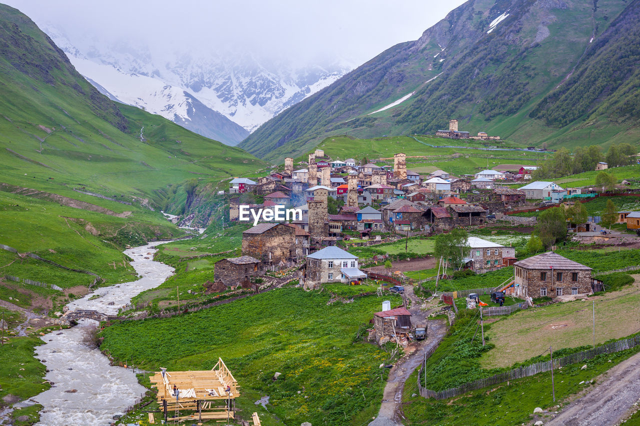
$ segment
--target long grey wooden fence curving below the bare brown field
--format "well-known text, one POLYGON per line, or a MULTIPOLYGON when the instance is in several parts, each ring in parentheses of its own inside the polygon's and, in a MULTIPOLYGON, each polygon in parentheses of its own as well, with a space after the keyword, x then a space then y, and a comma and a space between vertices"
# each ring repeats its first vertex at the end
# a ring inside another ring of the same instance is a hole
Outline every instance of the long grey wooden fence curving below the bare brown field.
POLYGON ((573 363, 579 363, 584 361, 585 359, 591 359, 600 354, 611 354, 614 352, 620 352, 620 351, 625 351, 627 349, 632 349, 637 345, 640 345, 640 335, 629 337, 623 340, 618 340, 617 342, 607 343, 606 345, 601 345, 593 349, 588 349, 587 351, 576 352, 575 354, 563 356, 562 358, 554 358, 553 365, 551 361, 540 361, 535 364, 513 368, 513 370, 509 370, 508 372, 504 372, 504 373, 495 374, 495 375, 492 375, 491 377, 486 377, 484 379, 478 379, 476 381, 468 382, 461 386, 458 386, 457 388, 449 388, 442 391, 433 391, 433 390, 424 388, 424 386, 422 386, 422 384, 420 383, 420 377, 426 366, 426 358, 425 358, 424 361, 422 361, 422 366, 420 367, 420 370, 418 372, 418 389, 420 391, 420 396, 424 398, 447 399, 447 398, 457 397, 458 395, 463 395, 468 391, 486 388, 487 386, 493 386, 495 384, 504 383, 508 380, 522 379, 522 377, 530 377, 538 373, 551 371, 552 369, 555 369, 555 368, 565 367, 566 365, 570 365, 573 363))

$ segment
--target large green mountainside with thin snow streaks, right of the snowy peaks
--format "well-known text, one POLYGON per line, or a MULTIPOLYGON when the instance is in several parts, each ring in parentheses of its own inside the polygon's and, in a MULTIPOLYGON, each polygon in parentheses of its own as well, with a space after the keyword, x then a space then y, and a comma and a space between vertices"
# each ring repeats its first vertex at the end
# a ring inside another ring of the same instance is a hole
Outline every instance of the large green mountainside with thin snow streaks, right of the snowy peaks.
MULTIPOLYGON (((638 9, 637 0, 470 0, 419 40, 391 47, 269 120, 239 146, 276 159, 300 154, 332 134, 433 133, 446 129, 450 118, 460 120, 460 130, 526 145, 628 141, 640 134, 637 118, 624 107, 600 107, 614 99, 621 106, 630 102, 630 72, 618 73, 616 84, 605 84, 607 90, 584 106, 573 108, 575 102, 564 97, 572 113, 555 116, 568 121, 551 120, 545 111, 556 109, 550 103, 556 93, 575 86, 587 70, 607 75, 611 66, 605 63, 616 58, 611 55, 621 44, 627 56, 637 55, 638 9), (406 95, 397 106, 375 112, 406 95)), ((630 59, 625 67, 634 64, 630 59)))

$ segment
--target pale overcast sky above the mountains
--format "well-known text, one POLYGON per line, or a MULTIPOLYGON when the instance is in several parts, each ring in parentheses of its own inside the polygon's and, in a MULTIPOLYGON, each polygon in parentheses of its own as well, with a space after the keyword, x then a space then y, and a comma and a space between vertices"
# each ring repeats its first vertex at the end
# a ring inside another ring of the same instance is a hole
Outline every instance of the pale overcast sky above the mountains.
MULTIPOLYGON (((1 0, 0 0, 1 1, 1 0)), ((5 0, 82 49, 90 40, 207 56, 244 51, 276 60, 360 65, 419 38, 462 0, 5 0)))

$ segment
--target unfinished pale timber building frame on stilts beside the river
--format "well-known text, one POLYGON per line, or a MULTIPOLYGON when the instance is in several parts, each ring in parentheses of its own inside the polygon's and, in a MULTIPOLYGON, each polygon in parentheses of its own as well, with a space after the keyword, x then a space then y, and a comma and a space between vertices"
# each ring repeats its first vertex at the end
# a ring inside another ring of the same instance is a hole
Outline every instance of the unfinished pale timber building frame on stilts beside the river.
POLYGON ((161 368, 150 380, 158 390, 157 400, 163 407, 165 421, 226 421, 234 418, 232 404, 236 404, 239 386, 221 358, 211 370, 168 372, 161 368), (178 389, 177 398, 173 395, 174 385, 178 389), (180 411, 193 413, 180 416, 180 411), (173 414, 168 416, 168 413, 173 414))

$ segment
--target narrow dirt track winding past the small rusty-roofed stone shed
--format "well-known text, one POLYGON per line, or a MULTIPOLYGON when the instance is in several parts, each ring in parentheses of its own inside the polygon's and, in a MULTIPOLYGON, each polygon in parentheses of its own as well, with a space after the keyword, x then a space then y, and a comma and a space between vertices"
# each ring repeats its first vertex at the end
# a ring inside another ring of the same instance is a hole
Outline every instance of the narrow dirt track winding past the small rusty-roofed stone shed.
MULTIPOLYGON (((421 308, 425 308, 424 302, 413 294, 413 287, 410 285, 404 286, 405 296, 411 299, 411 308, 409 311, 412 313, 412 324, 417 322, 427 322, 428 338, 421 342, 413 342, 406 349, 405 353, 408 353, 400 359, 391 368, 389 376, 387 378, 387 385, 382 398, 382 405, 376 419, 369 423, 369 426, 401 426, 401 412, 400 407, 402 404, 402 396, 404 393, 405 382, 413 371, 420 366, 422 359, 424 359, 424 353, 429 351, 432 347, 437 346, 440 343, 442 336, 447 333, 447 323, 444 320, 425 320, 424 318, 429 315, 429 309, 422 311, 421 308)), ((412 390, 412 386, 415 383, 407 383, 407 391, 417 392, 412 390)), ((417 387, 417 386, 416 386, 417 387)))

